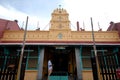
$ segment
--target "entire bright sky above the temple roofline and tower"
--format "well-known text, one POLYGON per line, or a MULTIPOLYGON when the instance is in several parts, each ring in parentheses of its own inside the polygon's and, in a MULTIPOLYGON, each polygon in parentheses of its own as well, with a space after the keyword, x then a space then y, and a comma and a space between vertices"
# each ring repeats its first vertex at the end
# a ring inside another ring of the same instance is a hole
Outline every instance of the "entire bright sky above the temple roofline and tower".
POLYGON ((26 17, 29 16, 28 29, 49 29, 51 13, 61 5, 69 13, 72 30, 76 29, 76 22, 80 27, 91 30, 90 17, 93 18, 94 30, 100 27, 106 31, 110 21, 120 22, 119 0, 1 0, 0 18, 19 21, 24 27, 26 17), (39 23, 39 25, 38 25, 39 23))

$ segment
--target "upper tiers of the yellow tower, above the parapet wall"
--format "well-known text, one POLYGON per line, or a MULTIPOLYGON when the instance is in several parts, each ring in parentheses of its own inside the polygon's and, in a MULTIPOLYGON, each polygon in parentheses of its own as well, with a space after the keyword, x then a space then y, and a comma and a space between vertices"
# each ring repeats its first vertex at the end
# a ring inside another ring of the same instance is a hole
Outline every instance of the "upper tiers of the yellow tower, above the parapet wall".
POLYGON ((69 14, 63 8, 57 8, 52 13, 52 19, 50 21, 50 29, 70 29, 70 21, 68 19, 69 14))

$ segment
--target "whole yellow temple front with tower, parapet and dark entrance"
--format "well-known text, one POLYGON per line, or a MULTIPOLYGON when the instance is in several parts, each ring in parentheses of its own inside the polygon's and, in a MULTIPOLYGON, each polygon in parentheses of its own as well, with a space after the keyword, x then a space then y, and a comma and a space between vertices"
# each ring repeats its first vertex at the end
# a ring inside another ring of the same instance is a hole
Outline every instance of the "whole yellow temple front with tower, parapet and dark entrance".
MULTIPOLYGON (((25 80, 47 78, 47 62, 52 59, 53 73, 66 72, 70 79, 93 80, 91 56, 94 56, 92 31, 72 31, 69 14, 63 8, 51 14, 50 29, 27 30, 24 56, 27 56, 25 80)), ((24 30, 17 21, 0 19, 0 54, 20 54, 24 30)), ((97 54, 118 51, 119 29, 110 25, 107 31, 94 31, 97 54), (111 27, 112 26, 112 27, 111 27)))

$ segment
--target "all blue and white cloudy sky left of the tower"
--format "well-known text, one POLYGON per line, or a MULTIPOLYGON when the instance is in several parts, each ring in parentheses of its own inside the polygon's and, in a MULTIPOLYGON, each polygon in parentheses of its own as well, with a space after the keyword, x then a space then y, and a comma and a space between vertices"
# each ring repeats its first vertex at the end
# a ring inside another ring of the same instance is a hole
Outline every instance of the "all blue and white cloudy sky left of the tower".
POLYGON ((35 30, 38 26, 42 30, 48 30, 52 10, 58 7, 58 3, 61 3, 61 0, 13 0, 12 2, 9 0, 2 0, 0 3, 0 10, 2 11, 0 13, 0 18, 9 20, 17 19, 20 27, 23 27, 25 25, 26 17, 29 16, 29 30, 35 30))

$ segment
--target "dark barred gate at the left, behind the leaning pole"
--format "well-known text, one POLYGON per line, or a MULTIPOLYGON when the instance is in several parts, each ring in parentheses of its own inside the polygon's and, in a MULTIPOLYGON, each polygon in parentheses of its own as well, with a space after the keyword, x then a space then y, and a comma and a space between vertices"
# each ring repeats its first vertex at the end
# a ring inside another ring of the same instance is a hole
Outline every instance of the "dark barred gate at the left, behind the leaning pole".
MULTIPOLYGON (((0 54, 0 80, 16 80, 20 56, 0 54)), ((20 80, 24 80, 26 57, 22 61, 20 80)))

